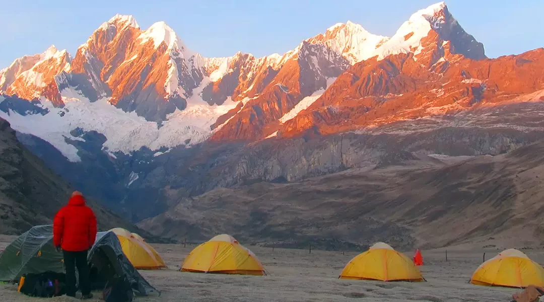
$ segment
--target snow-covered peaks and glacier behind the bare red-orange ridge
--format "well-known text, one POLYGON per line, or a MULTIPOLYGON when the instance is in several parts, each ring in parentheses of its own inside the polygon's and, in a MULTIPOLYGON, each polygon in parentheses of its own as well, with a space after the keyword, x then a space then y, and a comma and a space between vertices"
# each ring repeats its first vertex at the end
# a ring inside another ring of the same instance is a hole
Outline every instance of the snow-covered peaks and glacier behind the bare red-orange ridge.
POLYGON ((412 54, 411 61, 432 72, 450 64, 447 58, 455 54, 485 59, 483 45, 462 29, 443 2, 413 14, 393 37, 371 34, 348 21, 283 55, 263 58, 241 52, 203 58, 164 22, 143 30, 134 17, 115 15, 73 59, 51 47, 15 60, 0 71, 0 93, 38 99, 36 106, 47 114, 24 119, 6 112, 5 118, 18 131, 41 137, 77 161, 75 148, 64 139, 76 128, 98 131, 106 136, 104 147, 124 153, 208 137, 255 141, 281 136, 283 123, 308 111, 350 66, 397 54, 412 54), (47 126, 37 130, 35 123, 47 126), (108 127, 120 133, 110 134, 104 129, 108 127))

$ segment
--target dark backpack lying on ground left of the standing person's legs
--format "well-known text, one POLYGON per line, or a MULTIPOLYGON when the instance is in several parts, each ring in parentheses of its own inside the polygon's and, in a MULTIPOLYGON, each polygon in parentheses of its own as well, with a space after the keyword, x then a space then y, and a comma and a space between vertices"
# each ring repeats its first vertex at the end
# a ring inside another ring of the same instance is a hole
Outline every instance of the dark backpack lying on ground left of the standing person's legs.
POLYGON ((26 274, 21 277, 19 291, 30 297, 51 298, 66 293, 66 275, 47 271, 39 274, 26 274))

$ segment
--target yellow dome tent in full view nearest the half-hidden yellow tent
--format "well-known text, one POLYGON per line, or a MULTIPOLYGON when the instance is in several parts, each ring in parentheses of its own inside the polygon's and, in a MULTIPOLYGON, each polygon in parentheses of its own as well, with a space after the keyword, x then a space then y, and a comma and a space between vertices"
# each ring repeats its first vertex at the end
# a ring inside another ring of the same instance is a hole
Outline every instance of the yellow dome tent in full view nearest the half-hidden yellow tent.
POLYGON ((182 272, 264 275, 255 254, 230 235, 218 235, 200 244, 186 257, 182 272))

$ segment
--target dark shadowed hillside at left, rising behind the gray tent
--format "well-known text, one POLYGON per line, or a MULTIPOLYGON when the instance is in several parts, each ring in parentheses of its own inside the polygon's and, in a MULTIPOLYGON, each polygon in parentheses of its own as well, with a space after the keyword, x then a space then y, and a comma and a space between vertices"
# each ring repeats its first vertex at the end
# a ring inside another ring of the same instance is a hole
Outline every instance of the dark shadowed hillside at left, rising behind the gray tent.
MULTIPOLYGON (((32 226, 51 224, 73 189, 16 139, 15 131, 4 119, 0 119, 0 155, 2 234, 20 235, 32 226)), ((122 227, 139 232, 151 241, 156 239, 92 199, 88 199, 87 204, 95 211, 99 229, 122 227)))

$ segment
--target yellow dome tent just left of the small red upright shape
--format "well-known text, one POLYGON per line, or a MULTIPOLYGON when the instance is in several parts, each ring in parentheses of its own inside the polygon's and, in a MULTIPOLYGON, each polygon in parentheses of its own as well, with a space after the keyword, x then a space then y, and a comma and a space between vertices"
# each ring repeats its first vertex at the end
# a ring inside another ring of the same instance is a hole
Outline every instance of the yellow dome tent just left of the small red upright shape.
POLYGON ((379 242, 354 257, 342 270, 340 279, 381 281, 424 281, 409 257, 379 242))

